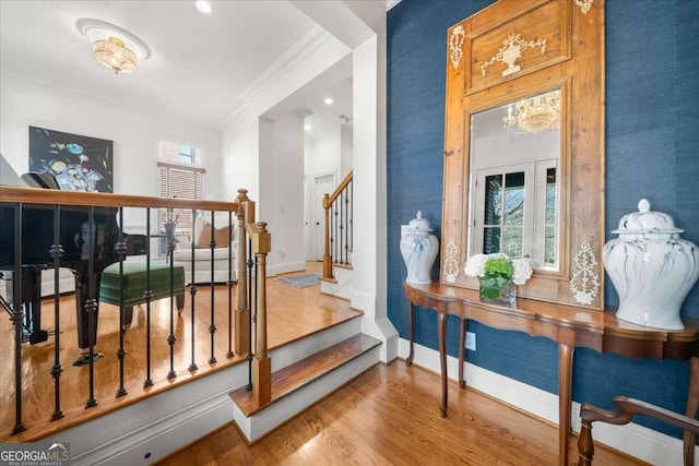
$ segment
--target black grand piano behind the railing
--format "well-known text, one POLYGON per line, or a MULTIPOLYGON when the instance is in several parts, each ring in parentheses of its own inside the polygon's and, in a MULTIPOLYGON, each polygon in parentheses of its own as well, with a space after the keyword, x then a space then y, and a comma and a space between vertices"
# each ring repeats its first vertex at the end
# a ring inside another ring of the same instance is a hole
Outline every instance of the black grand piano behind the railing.
MULTIPOLYGON (((1 154, 0 176, 0 184, 60 189, 50 174, 25 174, 17 177, 1 154)), ((7 295, 0 296, 0 306, 11 312, 13 303, 21 303, 24 312, 23 340, 31 344, 45 342, 49 336, 49 332, 42 328, 40 284, 42 271, 55 265, 51 255, 55 246, 55 215, 54 205, 19 206, 0 199, 0 278, 5 280, 7 295), (21 235, 17 238, 20 217, 21 235), (17 273, 21 274, 19 296, 14 284, 17 273)), ((70 268, 75 277, 78 346, 83 353, 73 362, 74 366, 90 362, 87 349, 97 343, 99 277, 105 267, 119 260, 115 249, 120 237, 117 210, 95 207, 92 223, 90 217, 90 207, 83 206, 61 206, 59 214, 59 244, 62 248, 60 266, 70 268), (87 315, 91 294, 96 304, 92 328, 87 315)), ((126 255, 145 253, 144 235, 123 234, 122 240, 126 255)), ((95 355, 99 354, 93 353, 93 357, 95 355)))

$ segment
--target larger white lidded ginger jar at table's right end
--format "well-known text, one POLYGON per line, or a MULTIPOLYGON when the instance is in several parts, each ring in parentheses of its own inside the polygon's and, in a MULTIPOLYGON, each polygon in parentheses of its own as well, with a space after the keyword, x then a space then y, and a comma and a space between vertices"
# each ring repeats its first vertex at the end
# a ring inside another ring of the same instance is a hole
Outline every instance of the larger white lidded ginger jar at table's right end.
POLYGON ((682 330, 679 310, 699 277, 697 246, 679 237, 672 216, 651 211, 645 199, 626 214, 602 260, 619 295, 616 316, 663 330, 682 330))

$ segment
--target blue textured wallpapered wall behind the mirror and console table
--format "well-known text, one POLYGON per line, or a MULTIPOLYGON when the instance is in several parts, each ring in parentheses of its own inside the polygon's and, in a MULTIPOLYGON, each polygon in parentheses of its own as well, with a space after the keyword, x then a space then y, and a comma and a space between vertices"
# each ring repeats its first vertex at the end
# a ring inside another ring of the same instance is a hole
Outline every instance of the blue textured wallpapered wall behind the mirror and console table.
MULTIPOLYGON (((490 0, 402 0, 388 14, 388 312, 407 336, 405 265, 400 225, 418 210, 441 238, 447 28, 490 0)), ((606 230, 641 198, 675 217, 684 238, 699 243, 699 2, 606 1, 606 230)), ((607 234, 605 240, 613 238, 607 234)), ((433 276, 438 277, 436 261, 433 276)), ((608 278, 606 303, 618 297, 608 278)), ((699 318, 699 286, 683 315, 699 318)), ((471 322, 477 351, 471 362, 550 393, 558 391, 557 346, 549 339, 471 322)), ((458 323, 448 323, 455 356, 458 323)), ((416 312, 415 338, 437 349, 437 318, 416 312)), ((616 395, 684 411, 689 368, 684 361, 632 360, 579 348, 573 399, 611 407, 616 395)), ((676 429, 640 420, 680 437, 676 429)))

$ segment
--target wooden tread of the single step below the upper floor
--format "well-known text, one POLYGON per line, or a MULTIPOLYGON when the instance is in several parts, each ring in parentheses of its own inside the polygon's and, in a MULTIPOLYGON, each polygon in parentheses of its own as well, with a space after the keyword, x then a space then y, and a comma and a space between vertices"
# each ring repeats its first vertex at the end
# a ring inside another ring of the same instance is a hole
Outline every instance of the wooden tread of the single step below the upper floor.
POLYGON ((250 417, 379 345, 379 339, 358 334, 272 373, 272 402, 269 405, 257 407, 252 391, 245 386, 232 392, 230 398, 246 417, 250 417))

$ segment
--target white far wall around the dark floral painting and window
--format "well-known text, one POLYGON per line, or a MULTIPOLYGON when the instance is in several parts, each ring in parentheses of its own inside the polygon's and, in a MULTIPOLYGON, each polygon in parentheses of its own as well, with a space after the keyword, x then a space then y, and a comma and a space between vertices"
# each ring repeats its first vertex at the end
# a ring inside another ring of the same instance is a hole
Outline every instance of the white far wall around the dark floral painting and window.
POLYGON ((205 151, 206 199, 222 199, 218 131, 170 122, 3 75, 0 82, 0 152, 19 174, 28 170, 28 127, 114 141, 117 193, 156 195, 158 141, 190 143, 205 151))

